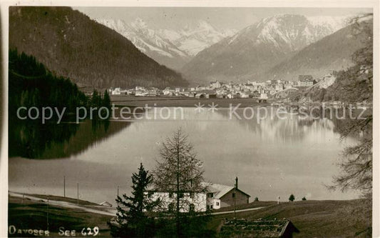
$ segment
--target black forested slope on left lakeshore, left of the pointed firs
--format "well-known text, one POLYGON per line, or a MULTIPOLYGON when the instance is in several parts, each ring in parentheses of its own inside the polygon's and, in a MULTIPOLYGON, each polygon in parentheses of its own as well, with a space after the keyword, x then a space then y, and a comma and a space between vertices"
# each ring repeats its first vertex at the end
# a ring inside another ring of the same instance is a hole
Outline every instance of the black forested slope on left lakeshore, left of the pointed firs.
POLYGON ((86 106, 87 96, 70 79, 54 76, 34 56, 16 49, 9 50, 9 115, 15 116, 19 106, 51 106, 75 112, 86 106))

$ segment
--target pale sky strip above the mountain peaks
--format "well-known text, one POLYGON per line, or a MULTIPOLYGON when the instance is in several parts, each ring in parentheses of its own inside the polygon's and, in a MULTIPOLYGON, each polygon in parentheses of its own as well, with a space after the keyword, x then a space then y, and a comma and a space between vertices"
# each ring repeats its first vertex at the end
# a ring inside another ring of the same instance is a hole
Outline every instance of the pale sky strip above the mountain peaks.
POLYGON ((304 16, 348 16, 371 12, 358 8, 217 8, 217 7, 74 7, 91 19, 143 19, 153 29, 181 29, 204 20, 217 29, 243 29, 256 21, 277 14, 304 16))

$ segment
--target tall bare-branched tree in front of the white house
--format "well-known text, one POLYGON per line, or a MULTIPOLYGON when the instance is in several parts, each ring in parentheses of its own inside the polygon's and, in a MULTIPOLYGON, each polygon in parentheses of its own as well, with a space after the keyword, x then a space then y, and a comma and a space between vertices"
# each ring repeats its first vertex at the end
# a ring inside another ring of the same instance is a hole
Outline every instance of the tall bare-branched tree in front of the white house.
POLYGON ((188 142, 188 136, 182 129, 178 129, 172 137, 163 142, 160 160, 153 174, 155 190, 169 194, 171 200, 161 199, 175 202, 168 205, 168 212, 172 212, 175 218, 176 235, 180 237, 181 219, 194 212, 200 212, 196 211, 199 204, 194 203, 205 202, 201 201, 200 197, 205 192, 202 186, 202 162, 196 158, 193 147, 188 142))

